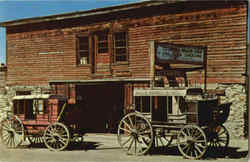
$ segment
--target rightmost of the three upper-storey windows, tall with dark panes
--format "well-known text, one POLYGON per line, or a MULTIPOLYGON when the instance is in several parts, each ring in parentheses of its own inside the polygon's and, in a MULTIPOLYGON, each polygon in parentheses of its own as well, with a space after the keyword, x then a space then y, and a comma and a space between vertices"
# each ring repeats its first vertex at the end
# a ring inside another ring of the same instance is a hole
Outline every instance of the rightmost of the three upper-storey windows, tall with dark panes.
POLYGON ((127 33, 118 32, 114 33, 114 59, 115 62, 127 61, 127 33))

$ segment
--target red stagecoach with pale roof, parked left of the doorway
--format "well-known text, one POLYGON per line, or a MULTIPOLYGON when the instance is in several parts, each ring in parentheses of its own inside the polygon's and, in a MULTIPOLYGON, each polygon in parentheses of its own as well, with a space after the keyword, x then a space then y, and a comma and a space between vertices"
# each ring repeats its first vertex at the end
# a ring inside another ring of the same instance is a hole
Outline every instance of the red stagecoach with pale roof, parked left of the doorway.
POLYGON ((81 109, 58 95, 23 95, 13 98, 12 111, 1 122, 1 140, 15 148, 25 139, 31 144, 45 143, 54 151, 65 149, 70 142, 83 140, 81 109))

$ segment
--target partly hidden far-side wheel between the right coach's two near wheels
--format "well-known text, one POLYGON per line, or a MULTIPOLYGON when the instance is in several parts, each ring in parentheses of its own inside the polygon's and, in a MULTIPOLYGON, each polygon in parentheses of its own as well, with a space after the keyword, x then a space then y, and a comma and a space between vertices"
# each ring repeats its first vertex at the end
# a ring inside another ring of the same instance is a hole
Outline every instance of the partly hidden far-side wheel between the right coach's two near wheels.
POLYGON ((172 136, 166 136, 164 129, 154 130, 154 147, 160 149, 166 149, 172 142, 172 136))

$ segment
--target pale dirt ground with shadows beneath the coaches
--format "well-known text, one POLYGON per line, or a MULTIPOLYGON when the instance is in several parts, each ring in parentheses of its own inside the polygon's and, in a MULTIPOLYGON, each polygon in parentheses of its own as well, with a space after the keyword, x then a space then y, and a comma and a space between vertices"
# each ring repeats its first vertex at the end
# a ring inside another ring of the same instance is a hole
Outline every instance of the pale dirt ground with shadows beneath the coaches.
MULTIPOLYGON (((80 145, 69 147, 65 151, 49 151, 45 146, 30 146, 28 142, 16 149, 7 149, 0 145, 0 162, 182 162, 184 159, 176 146, 166 152, 152 151, 143 156, 129 156, 122 150, 114 134, 87 134, 80 145)), ((225 153, 209 152, 196 162, 246 162, 248 140, 231 139, 225 153)))

